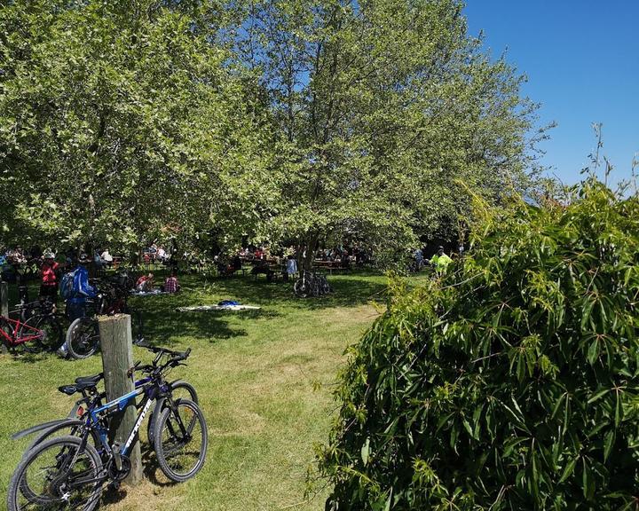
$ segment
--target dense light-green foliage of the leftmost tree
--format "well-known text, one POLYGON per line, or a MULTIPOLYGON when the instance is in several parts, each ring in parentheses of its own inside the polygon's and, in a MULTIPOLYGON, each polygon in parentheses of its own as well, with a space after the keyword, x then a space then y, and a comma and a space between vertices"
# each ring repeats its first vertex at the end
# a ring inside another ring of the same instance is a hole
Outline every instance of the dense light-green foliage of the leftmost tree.
POLYGON ((195 29, 197 3, 173 4, 0 11, 4 240, 135 247, 164 232, 184 246, 228 218, 232 233, 264 230, 246 211, 279 193, 268 113, 216 27, 195 29))

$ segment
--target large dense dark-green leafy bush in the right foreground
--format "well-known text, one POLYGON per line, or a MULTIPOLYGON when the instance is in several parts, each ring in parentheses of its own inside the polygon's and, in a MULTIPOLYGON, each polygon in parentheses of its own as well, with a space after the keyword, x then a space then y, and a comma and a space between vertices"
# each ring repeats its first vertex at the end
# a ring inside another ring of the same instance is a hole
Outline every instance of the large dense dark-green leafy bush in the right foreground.
POLYGON ((351 348, 327 509, 639 508, 639 202, 590 180, 480 213, 351 348))

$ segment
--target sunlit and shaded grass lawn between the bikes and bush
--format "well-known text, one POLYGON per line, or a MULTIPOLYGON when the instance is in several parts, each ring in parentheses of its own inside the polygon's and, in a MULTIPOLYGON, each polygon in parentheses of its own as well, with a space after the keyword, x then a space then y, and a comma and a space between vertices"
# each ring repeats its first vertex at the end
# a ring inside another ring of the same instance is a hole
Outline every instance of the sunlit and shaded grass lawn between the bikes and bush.
MULTIPOLYGON (((169 484, 156 467, 142 430, 145 482, 106 497, 109 510, 323 509, 326 491, 304 499, 312 445, 327 438, 335 403, 332 382, 344 348, 358 340, 384 300, 385 278, 351 274, 329 278, 333 295, 299 300, 292 283, 264 276, 204 281, 182 277, 178 295, 137 297, 146 337, 155 344, 193 349, 182 378, 198 390, 209 427, 209 452, 200 474, 169 484), (261 311, 177 312, 180 305, 235 299, 261 311), (321 385, 317 385, 317 384, 321 385)), ((134 348, 134 358, 151 353, 134 348)), ((99 355, 68 361, 51 354, 0 355, 0 509, 29 439, 12 432, 66 416, 74 399, 58 392, 75 377, 101 371, 99 355)))

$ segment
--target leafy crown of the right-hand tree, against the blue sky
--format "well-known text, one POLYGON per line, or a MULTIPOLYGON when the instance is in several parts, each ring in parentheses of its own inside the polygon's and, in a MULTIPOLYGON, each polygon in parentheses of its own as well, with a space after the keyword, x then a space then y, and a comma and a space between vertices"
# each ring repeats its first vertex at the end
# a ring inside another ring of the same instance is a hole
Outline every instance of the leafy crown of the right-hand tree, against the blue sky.
POLYGON ((468 210, 455 179, 491 200, 525 187, 536 106, 460 1, 247 4, 237 55, 294 163, 274 222, 309 248, 352 228, 393 250, 450 231, 468 210))

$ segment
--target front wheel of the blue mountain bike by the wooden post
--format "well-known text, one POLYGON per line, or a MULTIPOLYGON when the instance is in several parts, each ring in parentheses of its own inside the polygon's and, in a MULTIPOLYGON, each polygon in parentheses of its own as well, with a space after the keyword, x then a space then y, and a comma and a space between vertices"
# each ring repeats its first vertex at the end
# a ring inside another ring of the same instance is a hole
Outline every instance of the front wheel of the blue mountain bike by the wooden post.
POLYGON ((195 476, 204 465, 208 445, 206 421, 193 401, 178 399, 162 411, 154 449, 162 472, 171 481, 182 483, 195 476))

